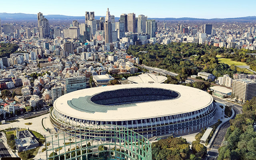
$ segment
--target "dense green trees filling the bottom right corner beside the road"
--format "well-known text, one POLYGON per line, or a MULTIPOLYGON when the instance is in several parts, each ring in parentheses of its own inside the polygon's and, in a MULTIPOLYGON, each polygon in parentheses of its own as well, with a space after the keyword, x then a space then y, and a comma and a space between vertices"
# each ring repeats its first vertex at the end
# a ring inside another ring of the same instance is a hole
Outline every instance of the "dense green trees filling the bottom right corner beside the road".
POLYGON ((253 127, 256 120, 256 97, 246 101, 243 113, 230 120, 224 146, 219 148, 218 160, 255 160, 256 132, 253 127))

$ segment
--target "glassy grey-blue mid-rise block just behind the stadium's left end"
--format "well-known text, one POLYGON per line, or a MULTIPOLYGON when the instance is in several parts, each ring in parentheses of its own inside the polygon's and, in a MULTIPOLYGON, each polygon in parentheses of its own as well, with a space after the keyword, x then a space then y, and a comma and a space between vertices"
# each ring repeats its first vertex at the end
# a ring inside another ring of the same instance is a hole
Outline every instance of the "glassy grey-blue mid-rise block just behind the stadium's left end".
POLYGON ((65 93, 86 89, 86 77, 70 77, 66 79, 65 93))

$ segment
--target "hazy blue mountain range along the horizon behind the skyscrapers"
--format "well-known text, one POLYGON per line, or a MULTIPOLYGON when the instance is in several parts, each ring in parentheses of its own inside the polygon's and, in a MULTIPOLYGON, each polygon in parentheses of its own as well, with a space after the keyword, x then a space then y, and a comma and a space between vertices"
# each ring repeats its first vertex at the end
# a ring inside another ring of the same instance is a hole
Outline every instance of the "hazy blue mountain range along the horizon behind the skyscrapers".
MULTIPOLYGON (((95 19, 99 20, 102 16, 95 16, 95 19)), ((36 14, 24 14, 24 13, 0 13, 1 20, 37 20, 36 14)), ((64 15, 45 15, 45 18, 48 20, 85 20, 85 16, 64 16, 64 15)), ((116 20, 119 17, 115 17, 116 20)), ((213 18, 213 19, 204 19, 204 18, 148 18, 155 20, 173 20, 173 21, 255 21, 256 16, 248 17, 238 17, 238 18, 213 18)))

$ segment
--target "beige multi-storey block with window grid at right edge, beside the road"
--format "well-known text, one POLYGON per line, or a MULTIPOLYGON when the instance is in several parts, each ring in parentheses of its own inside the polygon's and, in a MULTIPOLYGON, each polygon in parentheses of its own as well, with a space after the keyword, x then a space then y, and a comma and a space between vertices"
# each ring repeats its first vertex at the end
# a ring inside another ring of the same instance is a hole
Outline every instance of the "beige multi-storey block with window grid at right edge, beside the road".
POLYGON ((244 103, 256 96, 255 79, 235 79, 232 83, 232 95, 234 99, 244 103))

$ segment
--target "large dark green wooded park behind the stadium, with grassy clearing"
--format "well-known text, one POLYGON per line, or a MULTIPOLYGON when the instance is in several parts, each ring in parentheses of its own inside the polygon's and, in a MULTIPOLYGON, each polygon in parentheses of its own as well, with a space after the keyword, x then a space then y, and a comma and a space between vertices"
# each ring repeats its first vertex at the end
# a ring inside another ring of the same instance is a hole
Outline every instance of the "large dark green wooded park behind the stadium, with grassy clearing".
POLYGON ((223 74, 232 77, 234 73, 241 73, 234 67, 230 68, 227 64, 218 63, 217 54, 234 55, 229 58, 236 58, 237 61, 246 59, 246 63, 256 64, 254 57, 248 55, 252 53, 249 49, 220 48, 198 43, 130 45, 127 53, 140 57, 140 62, 144 65, 167 69, 183 75, 196 75, 197 72, 206 71, 216 77, 223 74), (147 53, 140 51, 147 51, 147 53))

